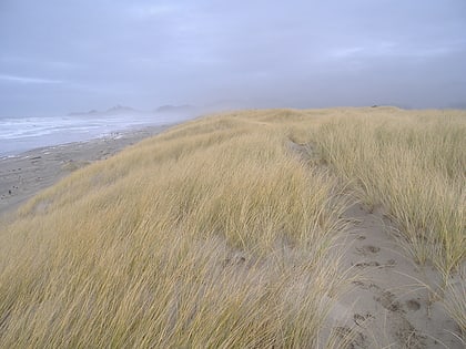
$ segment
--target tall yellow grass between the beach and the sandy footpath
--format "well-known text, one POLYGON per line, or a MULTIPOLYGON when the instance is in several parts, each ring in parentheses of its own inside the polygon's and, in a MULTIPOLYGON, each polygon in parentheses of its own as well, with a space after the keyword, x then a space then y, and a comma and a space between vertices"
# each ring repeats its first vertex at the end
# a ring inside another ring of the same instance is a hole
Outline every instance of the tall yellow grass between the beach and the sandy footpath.
POLYGON ((261 115, 186 123, 24 205, 0 233, 0 347, 328 343, 343 204, 261 115))

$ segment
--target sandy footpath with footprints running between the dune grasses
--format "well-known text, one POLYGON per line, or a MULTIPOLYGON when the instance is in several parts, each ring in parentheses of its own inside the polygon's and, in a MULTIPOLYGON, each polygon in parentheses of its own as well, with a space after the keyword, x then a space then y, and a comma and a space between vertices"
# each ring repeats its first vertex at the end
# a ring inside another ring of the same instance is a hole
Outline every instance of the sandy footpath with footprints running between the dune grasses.
POLYGON ((381 212, 354 204, 345 240, 343 268, 362 279, 344 295, 333 318, 343 333, 355 329, 351 348, 464 348, 453 335, 457 325, 423 284, 438 284, 432 267, 419 267, 395 240, 392 223, 381 212))

